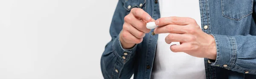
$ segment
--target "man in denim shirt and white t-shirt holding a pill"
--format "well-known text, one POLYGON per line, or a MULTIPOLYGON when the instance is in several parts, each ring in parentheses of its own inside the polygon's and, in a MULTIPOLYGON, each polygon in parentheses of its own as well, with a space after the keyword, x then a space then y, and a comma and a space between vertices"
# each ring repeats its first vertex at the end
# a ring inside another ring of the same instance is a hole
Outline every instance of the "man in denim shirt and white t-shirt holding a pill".
POLYGON ((105 79, 129 79, 133 73, 134 79, 256 79, 255 2, 119 0, 102 74, 105 79), (148 22, 158 27, 147 29, 148 22))

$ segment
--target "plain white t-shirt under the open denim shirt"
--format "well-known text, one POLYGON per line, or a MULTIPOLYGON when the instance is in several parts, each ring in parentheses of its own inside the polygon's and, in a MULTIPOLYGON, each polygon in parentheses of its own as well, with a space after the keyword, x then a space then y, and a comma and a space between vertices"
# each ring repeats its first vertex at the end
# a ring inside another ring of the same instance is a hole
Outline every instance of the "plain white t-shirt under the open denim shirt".
MULTIPOLYGON (((201 28, 199 0, 158 0, 161 17, 191 17, 201 28)), ((151 73, 152 79, 206 79, 204 58, 190 56, 186 53, 174 53, 173 44, 167 44, 168 34, 158 34, 157 51, 151 73)))

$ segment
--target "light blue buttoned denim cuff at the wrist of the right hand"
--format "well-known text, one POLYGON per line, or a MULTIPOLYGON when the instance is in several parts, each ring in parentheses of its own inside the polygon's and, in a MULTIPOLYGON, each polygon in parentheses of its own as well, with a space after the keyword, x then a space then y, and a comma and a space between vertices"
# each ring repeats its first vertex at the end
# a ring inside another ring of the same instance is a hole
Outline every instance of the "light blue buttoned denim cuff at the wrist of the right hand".
POLYGON ((211 34, 216 43, 216 60, 208 59, 208 63, 230 70, 236 61, 236 40, 234 37, 226 35, 211 34))

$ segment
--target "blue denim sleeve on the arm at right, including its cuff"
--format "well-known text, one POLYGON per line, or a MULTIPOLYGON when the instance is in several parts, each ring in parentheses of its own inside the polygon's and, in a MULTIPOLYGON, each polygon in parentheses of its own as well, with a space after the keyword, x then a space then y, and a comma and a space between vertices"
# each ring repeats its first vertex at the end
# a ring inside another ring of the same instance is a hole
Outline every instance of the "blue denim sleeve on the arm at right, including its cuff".
MULTIPOLYGON (((254 1, 254 4, 256 1, 254 1)), ((253 5, 253 15, 256 6, 253 5)), ((256 17, 253 16, 256 20, 256 17)), ((256 29, 255 25, 251 29, 256 29)), ((256 31, 250 31, 246 36, 226 36, 212 34, 217 47, 217 58, 208 61, 212 66, 226 68, 239 73, 256 74, 256 31)))

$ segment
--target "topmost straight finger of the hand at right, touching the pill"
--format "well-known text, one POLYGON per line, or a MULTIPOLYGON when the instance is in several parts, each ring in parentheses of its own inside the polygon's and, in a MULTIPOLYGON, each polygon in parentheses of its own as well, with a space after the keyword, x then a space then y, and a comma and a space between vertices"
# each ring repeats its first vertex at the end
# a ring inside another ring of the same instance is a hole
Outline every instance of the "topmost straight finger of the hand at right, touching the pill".
POLYGON ((156 25, 188 25, 190 23, 194 23, 195 20, 190 17, 162 17, 156 20, 156 25))

